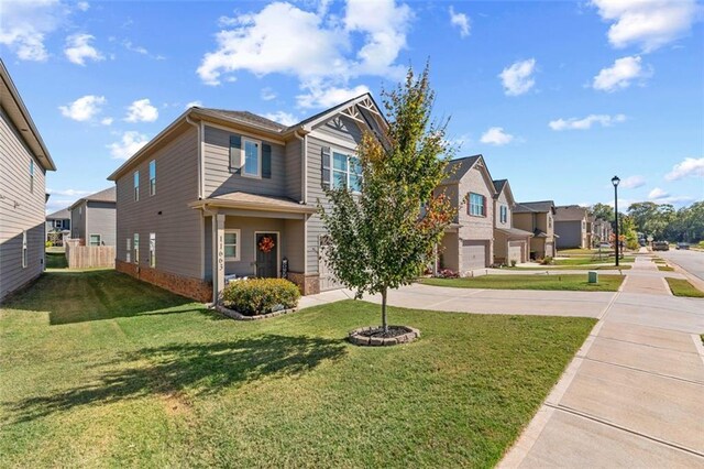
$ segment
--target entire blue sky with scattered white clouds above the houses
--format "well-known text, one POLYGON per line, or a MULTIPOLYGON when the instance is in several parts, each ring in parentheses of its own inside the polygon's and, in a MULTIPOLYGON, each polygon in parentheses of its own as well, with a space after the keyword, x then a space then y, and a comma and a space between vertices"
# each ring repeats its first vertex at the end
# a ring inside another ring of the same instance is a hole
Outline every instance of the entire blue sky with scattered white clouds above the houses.
POLYGON ((0 56, 58 171, 47 211, 188 106, 292 124, 430 63, 455 157, 518 201, 704 199, 704 3, 0 0, 0 56))

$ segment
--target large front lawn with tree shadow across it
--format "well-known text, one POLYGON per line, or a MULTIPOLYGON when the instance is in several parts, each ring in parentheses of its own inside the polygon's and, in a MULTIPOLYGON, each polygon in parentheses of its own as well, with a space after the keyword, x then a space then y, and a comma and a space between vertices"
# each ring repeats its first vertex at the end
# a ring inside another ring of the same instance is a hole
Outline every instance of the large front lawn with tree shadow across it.
POLYGON ((346 301, 223 319, 114 271, 52 272, 0 309, 0 467, 491 467, 588 318, 346 301))

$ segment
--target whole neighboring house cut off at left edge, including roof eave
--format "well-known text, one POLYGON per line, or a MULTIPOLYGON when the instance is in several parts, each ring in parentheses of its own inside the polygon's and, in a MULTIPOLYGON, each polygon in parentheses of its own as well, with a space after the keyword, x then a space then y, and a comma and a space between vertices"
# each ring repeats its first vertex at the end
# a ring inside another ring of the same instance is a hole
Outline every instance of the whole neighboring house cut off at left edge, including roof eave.
POLYGON ((46 172, 56 166, 0 61, 0 302, 44 271, 46 172))

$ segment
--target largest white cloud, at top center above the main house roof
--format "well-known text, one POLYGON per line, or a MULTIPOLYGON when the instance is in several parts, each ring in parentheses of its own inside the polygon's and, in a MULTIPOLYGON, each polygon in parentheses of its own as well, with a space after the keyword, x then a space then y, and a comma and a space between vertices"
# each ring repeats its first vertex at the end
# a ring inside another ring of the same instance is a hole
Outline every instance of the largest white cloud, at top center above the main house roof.
POLYGON ((394 0, 348 0, 341 17, 329 14, 327 4, 307 11, 270 3, 258 12, 220 19, 217 48, 205 54, 197 73, 208 85, 233 80, 241 70, 290 75, 306 94, 300 101, 322 107, 316 97, 350 88, 350 79, 402 78, 405 68, 396 58, 411 19, 410 8, 394 0))

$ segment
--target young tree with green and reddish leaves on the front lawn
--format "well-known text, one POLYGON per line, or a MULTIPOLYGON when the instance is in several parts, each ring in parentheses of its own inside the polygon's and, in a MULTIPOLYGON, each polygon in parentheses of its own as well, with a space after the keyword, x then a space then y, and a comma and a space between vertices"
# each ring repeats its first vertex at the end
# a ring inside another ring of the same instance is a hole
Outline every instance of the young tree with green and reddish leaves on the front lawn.
POLYGON ((365 132, 358 148, 361 193, 331 188, 330 207, 320 212, 330 239, 330 269, 358 298, 381 293, 387 334, 388 290, 418 276, 457 209, 437 192, 452 152, 447 122, 431 121, 428 67, 419 77, 409 69, 405 83, 383 96, 388 128, 377 137, 365 132))

